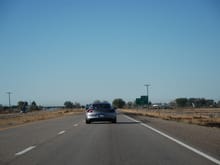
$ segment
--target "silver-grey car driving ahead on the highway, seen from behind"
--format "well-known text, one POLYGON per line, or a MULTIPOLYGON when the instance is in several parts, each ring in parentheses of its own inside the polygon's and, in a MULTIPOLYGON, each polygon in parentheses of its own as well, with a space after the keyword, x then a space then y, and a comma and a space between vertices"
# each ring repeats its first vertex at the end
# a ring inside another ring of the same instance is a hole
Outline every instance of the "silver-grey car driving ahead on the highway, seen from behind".
POLYGON ((117 113, 115 108, 109 103, 94 103, 86 110, 86 124, 94 121, 117 122, 117 113))

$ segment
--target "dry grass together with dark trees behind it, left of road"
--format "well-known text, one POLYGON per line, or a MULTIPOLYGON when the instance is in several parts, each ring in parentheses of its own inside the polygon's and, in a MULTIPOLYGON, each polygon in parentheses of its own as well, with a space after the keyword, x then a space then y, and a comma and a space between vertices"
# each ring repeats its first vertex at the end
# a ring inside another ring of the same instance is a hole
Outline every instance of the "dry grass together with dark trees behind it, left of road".
POLYGON ((70 101, 66 101, 63 107, 42 107, 35 101, 30 105, 27 101, 19 101, 17 106, 5 108, 0 105, 0 108, 0 130, 39 120, 81 114, 84 111, 79 103, 70 101))

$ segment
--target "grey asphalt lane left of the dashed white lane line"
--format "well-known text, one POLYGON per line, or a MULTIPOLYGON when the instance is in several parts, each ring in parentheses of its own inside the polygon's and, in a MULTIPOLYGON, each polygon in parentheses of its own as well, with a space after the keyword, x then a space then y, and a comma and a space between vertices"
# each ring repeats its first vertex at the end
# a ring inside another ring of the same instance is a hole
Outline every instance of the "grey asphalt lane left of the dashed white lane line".
POLYGON ((28 123, 0 131, 0 164, 14 158, 15 153, 33 145, 43 144, 82 122, 82 116, 68 116, 28 123))

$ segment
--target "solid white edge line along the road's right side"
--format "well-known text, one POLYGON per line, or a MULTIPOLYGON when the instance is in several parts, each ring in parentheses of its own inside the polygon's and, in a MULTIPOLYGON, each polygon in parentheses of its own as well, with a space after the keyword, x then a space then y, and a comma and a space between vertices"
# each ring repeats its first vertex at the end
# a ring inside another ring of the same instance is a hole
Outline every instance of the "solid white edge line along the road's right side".
POLYGON ((167 134, 165 134, 165 133, 163 133, 163 132, 161 132, 161 131, 159 131, 159 130, 157 130, 157 129, 155 129, 155 128, 153 128, 153 127, 151 127, 151 126, 149 126, 149 125, 147 125, 145 123, 143 123, 143 122, 135 120, 135 119, 133 119, 133 118, 127 116, 127 115, 124 115, 124 116, 127 119, 132 120, 132 121, 137 122, 137 123, 140 123, 140 125, 148 128, 148 129, 150 129, 150 130, 152 130, 152 131, 154 131, 154 132, 156 132, 156 133, 158 133, 158 134, 160 134, 160 135, 162 135, 162 136, 164 136, 164 137, 174 141, 175 143, 177 143, 177 144, 179 144, 179 145, 181 145, 181 146, 183 146, 183 147, 185 147, 185 148, 187 148, 187 149, 197 153, 198 155, 200 155, 200 156, 202 156, 202 157, 204 157, 204 158, 206 158, 206 159, 208 159, 208 160, 210 160, 210 161, 220 165, 220 160, 218 160, 218 159, 216 159, 216 158, 214 158, 212 156, 209 156, 209 155, 205 154, 204 152, 201 152, 201 151, 199 151, 199 150, 197 150, 197 149, 195 149, 195 148, 193 148, 193 147, 191 147, 191 146, 189 146, 189 145, 187 145, 187 144, 185 144, 185 143, 183 143, 183 142, 181 142, 181 141, 179 141, 179 140, 177 140, 177 139, 175 139, 175 138, 173 138, 173 137, 171 137, 171 136, 169 136, 169 135, 167 135, 167 134))

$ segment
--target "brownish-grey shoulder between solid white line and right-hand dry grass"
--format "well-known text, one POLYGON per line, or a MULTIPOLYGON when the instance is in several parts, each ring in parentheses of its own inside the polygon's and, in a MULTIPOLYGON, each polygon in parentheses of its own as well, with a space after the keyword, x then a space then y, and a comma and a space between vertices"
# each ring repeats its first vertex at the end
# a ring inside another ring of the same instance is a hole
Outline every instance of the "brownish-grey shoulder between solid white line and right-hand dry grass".
POLYGON ((220 128, 168 121, 140 115, 129 116, 220 160, 220 128))

